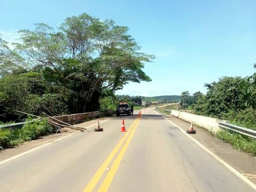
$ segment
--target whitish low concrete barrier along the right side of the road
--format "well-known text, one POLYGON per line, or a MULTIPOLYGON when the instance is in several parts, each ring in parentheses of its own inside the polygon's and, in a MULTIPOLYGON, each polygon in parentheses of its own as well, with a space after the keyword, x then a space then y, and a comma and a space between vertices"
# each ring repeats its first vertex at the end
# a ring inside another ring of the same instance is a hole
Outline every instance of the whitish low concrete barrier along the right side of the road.
POLYGON ((172 109, 172 112, 170 114, 173 115, 173 116, 176 116, 180 119, 183 119, 185 121, 193 122, 193 124, 195 124, 197 126, 200 126, 202 128, 205 128, 205 129, 211 131, 214 134, 217 133, 218 130, 220 129, 218 122, 228 123, 228 121, 225 121, 225 120, 214 119, 214 118, 211 118, 211 117, 190 114, 190 113, 177 111, 177 110, 173 110, 173 109, 172 109))

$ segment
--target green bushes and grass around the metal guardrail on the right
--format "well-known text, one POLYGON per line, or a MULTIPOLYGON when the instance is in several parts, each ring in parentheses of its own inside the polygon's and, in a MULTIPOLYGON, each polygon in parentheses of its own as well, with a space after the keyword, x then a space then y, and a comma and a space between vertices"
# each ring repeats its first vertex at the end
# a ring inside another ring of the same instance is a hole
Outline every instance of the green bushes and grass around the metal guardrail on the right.
MULTIPOLYGON (((182 93, 187 109, 191 109, 194 114, 223 119, 237 126, 256 129, 256 73, 246 78, 225 76, 218 82, 206 83, 205 87, 206 94, 200 94, 192 103, 190 101, 194 95, 189 96, 188 92, 182 93)), ((235 149, 256 155, 254 138, 230 130, 220 130, 216 137, 229 142, 235 149)))

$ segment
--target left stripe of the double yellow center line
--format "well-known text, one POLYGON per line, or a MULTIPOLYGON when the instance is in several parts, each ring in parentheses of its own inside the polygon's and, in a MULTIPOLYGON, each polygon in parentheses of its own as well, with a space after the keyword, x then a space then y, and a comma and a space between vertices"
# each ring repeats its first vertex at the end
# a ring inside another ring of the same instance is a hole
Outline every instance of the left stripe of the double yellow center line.
MULTIPOLYGON (((131 130, 133 128, 133 126, 136 124, 136 122, 138 121, 138 119, 136 119, 133 124, 130 126, 130 128, 128 130, 131 130)), ((116 145, 116 147, 113 149, 113 151, 109 154, 109 156, 107 157, 107 159, 104 161, 104 163, 102 164, 102 166, 100 166, 99 170, 97 171, 97 173, 95 173, 95 175, 93 176, 93 178, 90 180, 90 182, 88 183, 88 185, 85 187, 85 189, 83 190, 83 192, 92 192, 92 190, 94 189, 94 187, 97 185, 98 181, 100 180, 101 176, 103 175, 104 171, 106 170, 107 166, 110 164, 111 160, 114 158, 115 154, 118 152, 120 146, 122 145, 122 143, 124 142, 124 140, 126 139, 127 135, 129 134, 129 131, 126 132, 125 135, 123 135, 123 137, 121 138, 121 140, 119 141, 119 143, 116 145)))

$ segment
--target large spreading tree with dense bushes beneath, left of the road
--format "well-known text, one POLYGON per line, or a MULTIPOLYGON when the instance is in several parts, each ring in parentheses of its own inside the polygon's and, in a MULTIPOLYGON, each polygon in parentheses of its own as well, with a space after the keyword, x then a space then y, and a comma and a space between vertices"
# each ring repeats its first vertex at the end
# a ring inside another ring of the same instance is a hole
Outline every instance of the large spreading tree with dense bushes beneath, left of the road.
POLYGON ((66 18, 57 30, 40 23, 19 35, 14 50, 0 39, 3 114, 15 109, 50 115, 93 111, 100 97, 114 97, 129 81, 151 81, 142 69, 154 55, 140 52, 128 27, 113 20, 84 13, 66 18))

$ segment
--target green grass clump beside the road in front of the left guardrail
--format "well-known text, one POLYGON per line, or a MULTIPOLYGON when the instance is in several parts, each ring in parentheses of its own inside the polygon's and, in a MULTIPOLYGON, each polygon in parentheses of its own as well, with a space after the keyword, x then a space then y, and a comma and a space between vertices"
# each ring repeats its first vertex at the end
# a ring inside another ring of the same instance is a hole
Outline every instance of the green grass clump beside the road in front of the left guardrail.
MULTIPOLYGON (((32 118, 26 119, 26 121, 32 120, 32 118)), ((26 123, 21 129, 0 129, 0 149, 12 148, 50 133, 52 133, 52 127, 46 119, 43 121, 33 120, 32 123, 26 123)))

